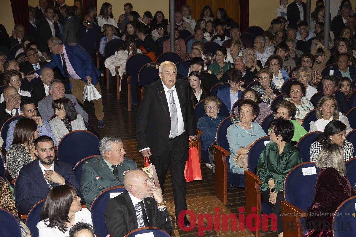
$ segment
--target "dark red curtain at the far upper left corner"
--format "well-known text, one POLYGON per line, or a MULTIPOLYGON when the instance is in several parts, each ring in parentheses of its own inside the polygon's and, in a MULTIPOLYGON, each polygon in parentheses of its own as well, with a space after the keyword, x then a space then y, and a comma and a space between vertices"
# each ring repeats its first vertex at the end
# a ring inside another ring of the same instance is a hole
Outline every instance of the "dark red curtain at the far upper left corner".
MULTIPOLYGON (((25 26, 25 34, 29 33, 29 18, 28 18, 28 0, 10 0, 12 15, 14 16, 15 24, 25 26)), ((11 32, 9 32, 11 35, 11 32)))

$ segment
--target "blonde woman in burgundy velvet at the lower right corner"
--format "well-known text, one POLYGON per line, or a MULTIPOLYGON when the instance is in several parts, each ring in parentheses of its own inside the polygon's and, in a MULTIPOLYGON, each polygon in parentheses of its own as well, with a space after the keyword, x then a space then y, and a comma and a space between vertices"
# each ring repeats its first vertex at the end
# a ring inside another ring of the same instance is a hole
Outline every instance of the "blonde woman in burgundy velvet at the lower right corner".
POLYGON ((325 145, 316 159, 315 166, 320 171, 312 205, 307 208, 305 224, 309 230, 304 235, 306 237, 334 236, 331 223, 337 207, 356 195, 345 175, 347 171, 343 160, 342 149, 336 144, 325 145))

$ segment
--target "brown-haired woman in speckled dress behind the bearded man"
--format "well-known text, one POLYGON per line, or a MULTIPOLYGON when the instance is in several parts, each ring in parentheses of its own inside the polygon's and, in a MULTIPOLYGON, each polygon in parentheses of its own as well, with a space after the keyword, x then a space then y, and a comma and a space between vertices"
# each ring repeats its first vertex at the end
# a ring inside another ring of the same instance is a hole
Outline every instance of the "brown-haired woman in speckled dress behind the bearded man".
POLYGON ((33 141, 38 138, 36 122, 30 118, 22 118, 16 121, 15 128, 12 127, 10 144, 7 150, 6 164, 12 179, 16 179, 20 169, 37 159, 33 141))

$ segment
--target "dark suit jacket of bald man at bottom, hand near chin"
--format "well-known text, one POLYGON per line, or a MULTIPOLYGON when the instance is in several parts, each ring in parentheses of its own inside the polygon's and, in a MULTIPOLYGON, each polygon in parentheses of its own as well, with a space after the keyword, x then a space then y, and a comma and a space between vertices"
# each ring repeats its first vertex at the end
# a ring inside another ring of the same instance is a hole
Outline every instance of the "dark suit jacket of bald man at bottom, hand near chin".
MULTIPOLYGON (((145 198, 146 214, 150 226, 160 228, 171 233, 172 225, 167 208, 164 211, 157 209, 154 198, 145 198)), ((137 229, 137 216, 135 207, 128 192, 124 192, 108 201, 105 210, 105 225, 110 236, 125 236, 130 231, 137 229)))

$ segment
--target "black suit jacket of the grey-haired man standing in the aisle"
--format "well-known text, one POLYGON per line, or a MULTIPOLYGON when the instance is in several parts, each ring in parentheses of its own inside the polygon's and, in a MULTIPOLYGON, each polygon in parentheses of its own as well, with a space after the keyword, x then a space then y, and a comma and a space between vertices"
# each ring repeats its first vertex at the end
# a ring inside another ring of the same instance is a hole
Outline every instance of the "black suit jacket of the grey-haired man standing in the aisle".
MULTIPOLYGON (((187 136, 194 136, 196 131, 195 115, 190 99, 188 81, 176 80, 176 90, 187 136)), ((154 156, 161 156, 166 149, 171 131, 171 115, 169 114, 166 93, 162 80, 157 80, 143 91, 143 99, 137 111, 136 138, 138 150, 150 147, 154 156)))

